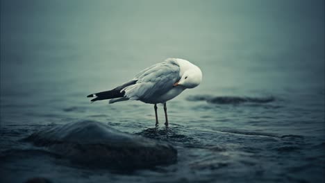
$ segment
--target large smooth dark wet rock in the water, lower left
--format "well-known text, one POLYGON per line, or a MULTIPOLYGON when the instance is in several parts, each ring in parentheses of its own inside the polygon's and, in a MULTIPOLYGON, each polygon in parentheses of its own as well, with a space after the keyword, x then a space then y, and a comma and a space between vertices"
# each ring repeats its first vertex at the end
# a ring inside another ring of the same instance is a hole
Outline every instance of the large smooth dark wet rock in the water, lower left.
POLYGON ((101 168, 149 168, 177 159, 177 151, 169 143, 126 134, 95 121, 40 130, 26 141, 47 147, 72 162, 101 168))

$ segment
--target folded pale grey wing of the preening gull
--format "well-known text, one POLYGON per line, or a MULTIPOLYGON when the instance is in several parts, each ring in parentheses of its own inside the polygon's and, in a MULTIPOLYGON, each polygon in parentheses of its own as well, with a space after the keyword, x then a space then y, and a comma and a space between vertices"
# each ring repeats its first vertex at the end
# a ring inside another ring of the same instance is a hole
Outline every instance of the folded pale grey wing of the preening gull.
POLYGON ((174 60, 154 64, 135 76, 134 80, 138 80, 135 85, 125 87, 122 91, 131 100, 151 101, 151 98, 161 96, 173 88, 180 79, 179 70, 174 60))

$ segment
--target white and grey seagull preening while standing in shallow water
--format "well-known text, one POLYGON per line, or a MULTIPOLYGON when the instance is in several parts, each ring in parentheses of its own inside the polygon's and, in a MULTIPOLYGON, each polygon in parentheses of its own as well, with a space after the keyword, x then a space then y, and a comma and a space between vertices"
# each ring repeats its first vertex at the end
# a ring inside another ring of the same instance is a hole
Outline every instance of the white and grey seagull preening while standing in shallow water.
POLYGON ((168 58, 140 71, 132 80, 105 92, 90 94, 91 102, 110 99, 109 103, 121 101, 142 101, 154 105, 156 126, 158 126, 157 104, 162 103, 165 111, 165 125, 168 126, 166 102, 185 89, 197 87, 202 80, 199 67, 188 60, 168 58))

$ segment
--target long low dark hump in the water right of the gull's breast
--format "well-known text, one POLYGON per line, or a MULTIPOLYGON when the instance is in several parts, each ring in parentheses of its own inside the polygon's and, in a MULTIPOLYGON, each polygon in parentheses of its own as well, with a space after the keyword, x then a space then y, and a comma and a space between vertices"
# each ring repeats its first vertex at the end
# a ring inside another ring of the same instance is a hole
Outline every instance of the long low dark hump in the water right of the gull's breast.
POLYGON ((209 96, 198 95, 189 96, 188 101, 207 101, 215 104, 240 104, 240 103, 271 103, 275 101, 273 96, 268 97, 248 97, 248 96, 209 96))

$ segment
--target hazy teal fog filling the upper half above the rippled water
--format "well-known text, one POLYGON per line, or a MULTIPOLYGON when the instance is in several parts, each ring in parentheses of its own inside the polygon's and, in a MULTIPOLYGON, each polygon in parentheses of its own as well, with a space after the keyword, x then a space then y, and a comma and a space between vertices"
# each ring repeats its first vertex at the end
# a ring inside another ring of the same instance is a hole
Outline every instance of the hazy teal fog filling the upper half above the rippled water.
POLYGON ((324 1, 1 1, 2 96, 110 89, 166 58, 201 67, 201 92, 324 90, 324 1))

